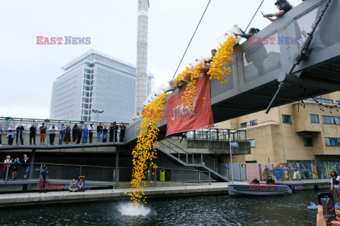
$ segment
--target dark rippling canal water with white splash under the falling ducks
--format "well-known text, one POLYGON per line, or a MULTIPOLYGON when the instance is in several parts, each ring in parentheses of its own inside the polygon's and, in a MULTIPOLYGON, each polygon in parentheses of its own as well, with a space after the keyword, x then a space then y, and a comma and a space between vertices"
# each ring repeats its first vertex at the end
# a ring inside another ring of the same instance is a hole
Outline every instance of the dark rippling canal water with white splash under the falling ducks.
POLYGON ((137 216, 127 201, 93 201, 0 209, 0 225, 315 225, 317 193, 296 191, 292 196, 195 196, 148 198, 137 216), (125 213, 125 215, 122 215, 125 213))

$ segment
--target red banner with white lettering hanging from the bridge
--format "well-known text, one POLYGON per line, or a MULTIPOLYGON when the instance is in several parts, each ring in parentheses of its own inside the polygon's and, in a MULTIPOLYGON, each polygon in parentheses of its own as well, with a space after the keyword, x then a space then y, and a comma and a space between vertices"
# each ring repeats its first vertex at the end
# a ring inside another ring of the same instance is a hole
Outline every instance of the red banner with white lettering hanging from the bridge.
POLYGON ((214 126, 210 100, 210 79, 206 74, 196 83, 196 99, 193 101, 194 109, 191 111, 183 107, 186 89, 166 101, 166 136, 174 133, 205 129, 214 126))

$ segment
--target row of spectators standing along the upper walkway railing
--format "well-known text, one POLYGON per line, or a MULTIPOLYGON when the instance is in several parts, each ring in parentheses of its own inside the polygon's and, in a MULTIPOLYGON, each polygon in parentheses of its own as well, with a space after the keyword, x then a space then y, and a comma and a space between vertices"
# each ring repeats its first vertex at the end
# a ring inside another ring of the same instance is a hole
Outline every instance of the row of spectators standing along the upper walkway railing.
MULTIPOLYGON (((102 125, 101 123, 99 123, 96 128, 94 127, 94 124, 90 124, 89 126, 87 124, 84 124, 84 126, 74 124, 72 128, 71 126, 69 126, 69 124, 67 124, 66 126, 64 126, 64 124, 61 124, 59 128, 57 128, 55 124, 52 124, 52 126, 47 129, 45 123, 42 123, 42 125, 37 129, 35 125, 32 124, 29 129, 30 145, 35 145, 35 136, 38 135, 38 132, 40 133, 40 145, 45 145, 47 134, 49 135, 49 144, 55 145, 55 137, 58 133, 59 145, 62 145, 63 143, 88 143, 88 141, 89 143, 92 143, 94 131, 96 131, 98 143, 123 142, 125 137, 125 130, 126 126, 123 122, 119 126, 116 122, 113 122, 110 126, 108 126, 108 124, 102 125), (118 131, 120 131, 119 135, 118 131)), ((11 124, 11 126, 9 126, 9 128, 7 129, 6 138, 8 138, 8 145, 13 145, 14 139, 16 139, 17 145, 23 145, 23 131, 25 131, 23 125, 19 124, 15 128, 13 124, 11 124)), ((4 129, 2 128, 2 124, 0 124, 0 146, 2 145, 1 135, 3 133, 4 129)))

